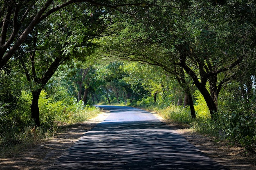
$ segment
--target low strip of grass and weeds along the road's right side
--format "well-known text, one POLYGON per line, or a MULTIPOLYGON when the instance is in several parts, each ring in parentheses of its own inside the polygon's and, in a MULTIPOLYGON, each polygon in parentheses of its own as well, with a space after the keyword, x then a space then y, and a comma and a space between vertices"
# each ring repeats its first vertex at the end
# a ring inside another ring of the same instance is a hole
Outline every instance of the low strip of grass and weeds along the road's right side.
POLYGON ((218 113, 211 119, 208 112, 196 110, 196 118, 192 119, 189 107, 168 106, 167 108, 148 107, 165 120, 190 126, 194 132, 214 138, 216 142, 226 142, 229 145, 242 146, 246 152, 256 152, 255 117, 236 114, 218 113))

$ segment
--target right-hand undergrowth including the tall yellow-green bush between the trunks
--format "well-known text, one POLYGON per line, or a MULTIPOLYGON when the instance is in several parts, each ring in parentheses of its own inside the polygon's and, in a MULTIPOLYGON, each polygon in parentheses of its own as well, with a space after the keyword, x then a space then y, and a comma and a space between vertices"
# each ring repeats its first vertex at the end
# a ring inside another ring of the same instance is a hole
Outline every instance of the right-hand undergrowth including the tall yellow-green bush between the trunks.
POLYGON ((136 106, 156 111, 164 119, 188 124, 195 132, 210 135, 216 140, 239 145, 256 152, 256 107, 252 103, 224 101, 215 117, 211 117, 207 104, 198 91, 194 94, 196 118, 191 118, 189 107, 183 108, 166 103, 154 104, 152 99, 137 102, 136 106))

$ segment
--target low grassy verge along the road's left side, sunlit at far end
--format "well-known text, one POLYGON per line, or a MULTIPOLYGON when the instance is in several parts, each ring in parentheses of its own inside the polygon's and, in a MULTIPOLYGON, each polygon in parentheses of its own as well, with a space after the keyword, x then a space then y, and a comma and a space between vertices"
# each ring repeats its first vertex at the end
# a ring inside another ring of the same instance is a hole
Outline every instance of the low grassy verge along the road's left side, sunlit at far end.
POLYGON ((26 150, 33 144, 54 137, 62 132, 66 126, 86 121, 96 117, 100 110, 94 107, 85 107, 76 110, 66 121, 54 120, 51 122, 43 122, 42 126, 26 126, 21 130, 8 129, 4 134, 0 135, 0 158, 11 157, 18 154, 22 150, 26 150))

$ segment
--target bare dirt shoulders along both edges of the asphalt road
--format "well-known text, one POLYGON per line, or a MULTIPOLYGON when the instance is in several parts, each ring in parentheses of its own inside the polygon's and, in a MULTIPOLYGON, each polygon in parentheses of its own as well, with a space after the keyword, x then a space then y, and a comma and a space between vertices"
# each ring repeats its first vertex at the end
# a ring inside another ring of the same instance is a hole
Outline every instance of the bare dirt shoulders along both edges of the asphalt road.
MULTIPOLYGON (((46 170, 79 137, 107 116, 108 114, 102 113, 90 121, 68 126, 65 132, 52 139, 31 146, 18 155, 0 159, 0 170, 46 170)), ((212 137, 198 135, 182 124, 166 123, 202 152, 230 170, 256 170, 255 153, 245 155, 243 148, 227 146, 224 142, 216 142, 212 137)))

